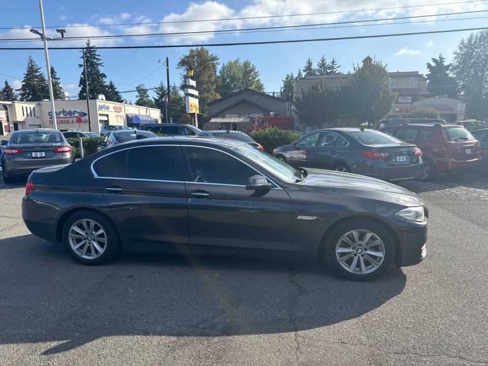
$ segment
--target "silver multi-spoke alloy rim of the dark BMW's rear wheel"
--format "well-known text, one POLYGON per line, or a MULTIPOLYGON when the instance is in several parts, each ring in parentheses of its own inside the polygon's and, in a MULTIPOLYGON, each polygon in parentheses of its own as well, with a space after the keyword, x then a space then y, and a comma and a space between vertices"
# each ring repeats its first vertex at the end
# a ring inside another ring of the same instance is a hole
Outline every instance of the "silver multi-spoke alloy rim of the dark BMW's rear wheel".
POLYGON ((81 219, 71 225, 68 233, 70 247, 81 258, 95 259, 107 248, 107 234, 96 221, 81 219))

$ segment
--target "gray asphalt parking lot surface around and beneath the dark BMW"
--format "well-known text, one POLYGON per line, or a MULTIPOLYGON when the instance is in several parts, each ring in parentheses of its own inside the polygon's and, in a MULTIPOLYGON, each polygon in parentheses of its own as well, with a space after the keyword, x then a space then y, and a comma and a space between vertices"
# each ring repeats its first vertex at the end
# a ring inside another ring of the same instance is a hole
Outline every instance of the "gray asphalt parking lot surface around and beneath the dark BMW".
POLYGON ((488 176, 406 181, 428 256, 371 283, 316 266, 122 255, 75 263, 29 234, 0 183, 2 365, 488 363, 488 176))

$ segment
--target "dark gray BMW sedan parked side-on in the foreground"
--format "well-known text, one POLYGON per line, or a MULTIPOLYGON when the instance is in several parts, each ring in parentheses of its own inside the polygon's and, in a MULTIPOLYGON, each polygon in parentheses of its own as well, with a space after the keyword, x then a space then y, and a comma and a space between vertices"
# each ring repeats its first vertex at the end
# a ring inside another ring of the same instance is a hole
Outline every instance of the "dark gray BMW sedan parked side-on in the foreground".
POLYGON ((375 178, 295 169, 237 140, 166 137, 119 144, 31 174, 28 229, 101 264, 119 248, 294 258, 371 280, 426 254, 428 210, 375 178))

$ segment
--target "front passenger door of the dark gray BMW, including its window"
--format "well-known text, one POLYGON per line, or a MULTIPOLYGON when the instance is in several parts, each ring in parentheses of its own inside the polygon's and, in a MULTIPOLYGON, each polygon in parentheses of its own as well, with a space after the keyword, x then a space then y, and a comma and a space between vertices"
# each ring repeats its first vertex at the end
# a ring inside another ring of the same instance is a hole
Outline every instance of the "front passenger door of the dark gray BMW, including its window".
POLYGON ((292 206, 283 189, 247 190, 248 178, 263 174, 219 149, 184 146, 182 157, 191 245, 291 250, 292 206))

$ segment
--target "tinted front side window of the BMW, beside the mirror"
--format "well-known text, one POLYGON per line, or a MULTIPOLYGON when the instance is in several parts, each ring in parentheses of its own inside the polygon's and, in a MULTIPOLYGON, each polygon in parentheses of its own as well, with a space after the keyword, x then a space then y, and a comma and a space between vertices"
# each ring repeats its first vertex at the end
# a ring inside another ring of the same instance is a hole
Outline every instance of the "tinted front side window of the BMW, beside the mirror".
POLYGON ((187 147, 187 164, 192 182, 245 186, 256 171, 221 151, 187 147))

